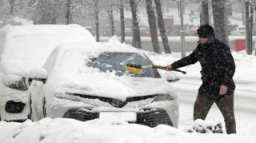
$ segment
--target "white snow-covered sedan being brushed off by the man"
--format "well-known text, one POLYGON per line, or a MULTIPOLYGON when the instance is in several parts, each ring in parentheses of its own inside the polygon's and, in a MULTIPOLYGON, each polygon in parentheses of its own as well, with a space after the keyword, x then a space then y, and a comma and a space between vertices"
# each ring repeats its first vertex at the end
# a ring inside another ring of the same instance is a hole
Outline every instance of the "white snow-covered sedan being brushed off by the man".
POLYGON ((179 77, 152 65, 144 50, 116 38, 58 46, 42 68, 30 71, 30 119, 111 118, 178 128, 178 99, 170 82, 179 77), (126 70, 126 64, 141 65, 142 73, 126 70))

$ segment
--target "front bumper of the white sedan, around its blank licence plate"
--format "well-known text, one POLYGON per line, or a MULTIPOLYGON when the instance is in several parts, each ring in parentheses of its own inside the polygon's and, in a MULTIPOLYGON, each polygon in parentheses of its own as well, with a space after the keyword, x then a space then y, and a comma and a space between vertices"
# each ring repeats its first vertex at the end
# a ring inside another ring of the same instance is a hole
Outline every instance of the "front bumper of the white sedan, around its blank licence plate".
MULTIPOLYGON (((81 101, 67 101, 51 97, 48 100, 49 109, 46 109, 47 117, 74 118, 79 121, 89 121, 99 118, 100 112, 135 112, 137 120, 134 123, 155 127, 160 124, 178 128, 178 100, 158 101, 147 105, 126 105, 123 108, 115 108, 109 104, 101 106, 82 103, 81 101), (54 102, 54 103, 53 103, 54 102), (55 104, 57 103, 58 104, 55 104), (67 102, 70 102, 68 104, 67 102)), ((47 101, 46 101, 47 102, 47 101)), ((48 103, 46 103, 48 104, 48 103)))

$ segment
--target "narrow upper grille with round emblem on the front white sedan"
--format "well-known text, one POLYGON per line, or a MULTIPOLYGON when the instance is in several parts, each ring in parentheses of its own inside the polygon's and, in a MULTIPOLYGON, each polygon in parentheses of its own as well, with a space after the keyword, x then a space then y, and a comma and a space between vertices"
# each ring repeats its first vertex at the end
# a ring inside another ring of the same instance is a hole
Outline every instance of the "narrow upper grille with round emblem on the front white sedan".
POLYGON ((82 98, 98 99, 100 101, 105 101, 105 102, 110 103, 110 105, 113 105, 114 107, 117 107, 117 108, 122 108, 128 102, 142 101, 142 100, 146 100, 146 99, 154 98, 154 97, 158 96, 158 94, 153 94, 153 95, 141 96, 141 97, 127 97, 126 101, 121 101, 119 99, 114 99, 114 98, 110 98, 110 97, 96 97, 96 96, 84 95, 84 94, 78 94, 78 93, 69 93, 69 94, 73 94, 75 96, 79 96, 79 97, 82 97, 82 98))

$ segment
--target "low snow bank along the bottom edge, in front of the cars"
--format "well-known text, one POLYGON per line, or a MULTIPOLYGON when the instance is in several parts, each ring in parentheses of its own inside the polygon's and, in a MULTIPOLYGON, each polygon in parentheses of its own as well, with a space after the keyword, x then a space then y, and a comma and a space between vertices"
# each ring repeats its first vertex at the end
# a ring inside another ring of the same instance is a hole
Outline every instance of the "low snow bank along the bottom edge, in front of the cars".
POLYGON ((168 125, 150 128, 125 121, 76 121, 64 118, 44 118, 32 122, 7 123, 0 121, 0 141, 4 143, 254 143, 245 135, 185 133, 168 125))

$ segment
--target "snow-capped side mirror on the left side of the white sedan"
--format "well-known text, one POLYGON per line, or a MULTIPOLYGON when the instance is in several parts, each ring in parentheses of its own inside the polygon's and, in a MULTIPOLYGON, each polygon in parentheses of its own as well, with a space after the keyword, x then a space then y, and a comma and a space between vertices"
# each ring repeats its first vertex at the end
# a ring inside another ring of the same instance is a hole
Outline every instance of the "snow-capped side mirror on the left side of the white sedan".
POLYGON ((42 81, 43 83, 46 83, 48 73, 47 73, 47 70, 43 68, 38 68, 38 69, 30 70, 29 76, 35 81, 42 81))

